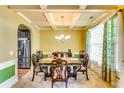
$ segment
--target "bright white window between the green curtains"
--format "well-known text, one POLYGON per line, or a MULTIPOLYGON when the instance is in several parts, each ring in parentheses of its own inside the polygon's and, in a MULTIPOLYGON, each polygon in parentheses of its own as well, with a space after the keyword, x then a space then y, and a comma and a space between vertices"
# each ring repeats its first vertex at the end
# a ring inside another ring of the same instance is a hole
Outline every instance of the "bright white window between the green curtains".
POLYGON ((104 24, 90 29, 90 60, 101 66, 102 64, 102 50, 103 50, 103 32, 104 24))

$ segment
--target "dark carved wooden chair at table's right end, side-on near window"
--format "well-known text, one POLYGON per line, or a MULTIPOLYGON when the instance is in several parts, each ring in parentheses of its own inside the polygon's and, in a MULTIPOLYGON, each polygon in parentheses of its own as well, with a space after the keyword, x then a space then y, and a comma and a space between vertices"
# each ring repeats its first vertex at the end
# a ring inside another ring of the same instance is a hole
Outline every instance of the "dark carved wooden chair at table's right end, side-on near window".
POLYGON ((75 67, 75 69, 77 69, 77 72, 82 72, 83 74, 86 74, 86 78, 87 80, 89 80, 88 77, 88 62, 89 62, 89 56, 88 54, 85 54, 84 58, 80 60, 82 63, 81 65, 77 68, 75 67))

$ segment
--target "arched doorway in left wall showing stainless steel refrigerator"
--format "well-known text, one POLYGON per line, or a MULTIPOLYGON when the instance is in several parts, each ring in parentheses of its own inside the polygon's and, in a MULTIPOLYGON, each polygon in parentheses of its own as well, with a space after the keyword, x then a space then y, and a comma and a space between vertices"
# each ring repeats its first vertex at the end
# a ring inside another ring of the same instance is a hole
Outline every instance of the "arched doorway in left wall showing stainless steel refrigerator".
POLYGON ((31 67, 31 33, 28 27, 20 24, 18 27, 18 68, 31 67))

